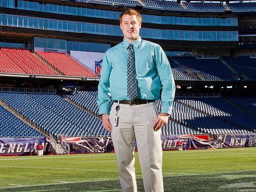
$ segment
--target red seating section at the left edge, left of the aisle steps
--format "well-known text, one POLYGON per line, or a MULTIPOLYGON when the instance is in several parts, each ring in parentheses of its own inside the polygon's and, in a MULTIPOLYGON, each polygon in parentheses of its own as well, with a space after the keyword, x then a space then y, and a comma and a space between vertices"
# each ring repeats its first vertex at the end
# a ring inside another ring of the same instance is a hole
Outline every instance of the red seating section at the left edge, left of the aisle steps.
POLYGON ((0 61, 5 73, 58 75, 27 49, 0 48, 0 61))

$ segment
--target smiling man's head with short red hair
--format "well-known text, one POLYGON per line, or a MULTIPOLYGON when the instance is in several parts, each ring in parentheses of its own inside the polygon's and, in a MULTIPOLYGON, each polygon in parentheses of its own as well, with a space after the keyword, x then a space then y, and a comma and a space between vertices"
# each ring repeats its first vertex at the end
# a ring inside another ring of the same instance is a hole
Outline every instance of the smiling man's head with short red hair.
POLYGON ((141 27, 141 15, 134 9, 128 9, 119 16, 120 28, 124 39, 133 43, 139 37, 141 27))

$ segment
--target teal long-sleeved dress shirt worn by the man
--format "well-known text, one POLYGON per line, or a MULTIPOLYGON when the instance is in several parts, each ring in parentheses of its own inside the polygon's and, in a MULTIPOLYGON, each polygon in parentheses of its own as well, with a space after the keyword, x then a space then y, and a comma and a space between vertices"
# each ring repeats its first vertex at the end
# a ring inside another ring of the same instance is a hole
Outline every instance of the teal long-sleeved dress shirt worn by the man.
MULTIPOLYGON (((129 100, 127 96, 127 58, 129 42, 123 42, 107 50, 101 68, 97 103, 99 114, 109 114, 112 100, 129 100)), ((139 37, 133 43, 138 99, 159 100, 161 112, 171 114, 175 94, 174 78, 165 52, 156 43, 139 37)))

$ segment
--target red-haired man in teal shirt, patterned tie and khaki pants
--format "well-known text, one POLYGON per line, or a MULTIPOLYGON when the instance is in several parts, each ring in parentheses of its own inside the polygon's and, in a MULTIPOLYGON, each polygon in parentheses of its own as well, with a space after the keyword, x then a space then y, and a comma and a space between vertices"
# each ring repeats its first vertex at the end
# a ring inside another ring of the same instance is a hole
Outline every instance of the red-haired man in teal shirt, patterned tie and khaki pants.
POLYGON ((160 128, 168 121, 174 99, 171 67, 158 44, 139 37, 138 11, 124 11, 119 21, 123 42, 107 50, 98 86, 102 125, 112 133, 122 191, 137 192, 136 139, 145 192, 163 192, 160 128), (160 92, 162 111, 158 114, 155 100, 160 92))

